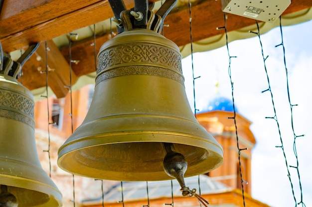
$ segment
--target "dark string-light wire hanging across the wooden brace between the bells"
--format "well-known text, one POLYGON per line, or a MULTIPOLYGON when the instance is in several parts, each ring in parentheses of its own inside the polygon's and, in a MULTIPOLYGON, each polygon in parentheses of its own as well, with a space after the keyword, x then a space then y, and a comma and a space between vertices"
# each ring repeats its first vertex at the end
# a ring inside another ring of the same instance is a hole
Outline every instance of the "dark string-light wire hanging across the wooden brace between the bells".
POLYGON ((51 178, 51 153, 50 153, 50 148, 51 148, 51 139, 50 139, 50 125, 54 123, 50 123, 50 110, 49 110, 49 99, 48 99, 48 46, 47 42, 44 42, 44 51, 45 51, 45 70, 40 71, 40 73, 45 73, 45 96, 41 95, 41 97, 46 98, 46 108, 47 108, 47 119, 48 119, 48 149, 43 150, 43 152, 48 153, 48 158, 49 158, 49 177, 51 178))

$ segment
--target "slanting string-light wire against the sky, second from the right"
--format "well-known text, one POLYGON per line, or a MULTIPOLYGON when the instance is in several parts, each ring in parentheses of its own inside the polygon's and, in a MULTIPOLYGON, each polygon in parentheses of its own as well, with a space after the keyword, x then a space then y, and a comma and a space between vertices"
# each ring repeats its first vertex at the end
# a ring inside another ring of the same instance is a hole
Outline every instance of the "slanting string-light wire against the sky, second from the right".
POLYGON ((269 85, 269 88, 266 89, 266 90, 264 90, 264 91, 262 91, 262 93, 267 92, 267 91, 270 91, 271 100, 272 100, 272 105, 273 105, 273 110, 274 110, 274 116, 273 116, 273 117, 266 117, 266 119, 274 119, 274 120, 276 121, 277 128, 278 128, 279 135, 280 135, 280 141, 281 141, 281 146, 276 146, 276 148, 281 148, 282 151, 283 151, 283 155, 284 155, 284 159, 285 159, 285 164, 286 164, 286 169, 287 169, 287 173, 288 173, 287 177, 289 178, 289 182, 290 182, 290 184, 291 184, 292 193, 293 193, 293 197, 294 197, 294 201, 295 201, 295 207, 297 207, 297 201, 296 201, 295 192, 294 192, 294 185, 293 185, 293 182, 292 182, 292 179, 291 179, 291 174, 290 174, 290 172, 289 172, 289 167, 288 167, 288 162, 287 162, 287 158, 286 158, 286 153, 285 153, 285 150, 284 150, 284 145, 283 145, 283 139, 282 139, 280 124, 279 124, 279 122, 278 122, 277 115, 276 115, 276 108, 275 108, 275 104, 274 104, 273 93, 272 93, 272 90, 271 90, 270 79, 269 79, 269 75, 268 75, 268 71, 267 71, 267 66, 266 66, 266 60, 267 60, 267 58, 268 58, 269 56, 264 57, 262 41, 261 41, 261 38, 260 38, 260 29, 259 29, 259 24, 258 24, 258 21, 257 21, 257 20, 256 20, 256 24, 257 24, 257 29, 258 29, 258 31, 257 31, 257 32, 249 31, 249 32, 254 33, 254 34, 256 34, 256 35, 259 37, 259 42, 260 42, 260 46, 261 46, 261 53, 262 53, 262 58, 263 58, 263 63, 264 63, 264 69, 265 69, 265 72, 266 72, 266 75, 267 75, 267 80, 268 80, 268 85, 269 85))

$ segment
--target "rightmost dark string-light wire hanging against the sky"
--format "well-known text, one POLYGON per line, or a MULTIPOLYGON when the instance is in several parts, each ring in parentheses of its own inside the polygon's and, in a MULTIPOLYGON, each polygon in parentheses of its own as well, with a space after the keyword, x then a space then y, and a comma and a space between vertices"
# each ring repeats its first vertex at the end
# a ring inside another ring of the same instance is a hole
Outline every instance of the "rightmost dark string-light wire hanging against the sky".
POLYGON ((298 104, 292 104, 291 103, 291 97, 290 97, 290 92, 289 92, 289 79, 288 79, 288 69, 287 69, 287 65, 286 65, 286 55, 285 55, 285 46, 284 46, 284 39, 283 39, 283 29, 282 29, 282 18, 280 16, 280 31, 281 31, 281 39, 282 39, 282 43, 279 45, 276 45, 275 47, 278 46, 282 46, 283 47, 283 55, 284 55, 284 66, 285 66, 285 73, 286 73, 286 82, 287 82, 287 95, 288 95, 288 102, 289 102, 289 106, 291 109, 291 123, 292 123, 292 130, 293 130, 293 135, 294 135, 294 144, 293 144, 293 150, 294 150, 294 154, 296 157, 296 164, 297 166, 289 166, 291 168, 295 168, 297 170, 297 175, 298 175, 298 180, 299 180, 299 187, 300 187, 300 202, 298 203, 298 205, 302 204, 303 207, 306 207, 306 205, 303 202, 303 194, 302 194, 302 185, 301 185, 301 179, 300 179, 300 172, 299 172, 299 160, 298 160, 298 154, 297 154, 297 146, 296 146, 296 139, 298 137, 303 137, 305 135, 296 135, 295 133, 295 129, 294 129, 294 119, 293 119, 293 107, 294 106, 298 106, 298 104))

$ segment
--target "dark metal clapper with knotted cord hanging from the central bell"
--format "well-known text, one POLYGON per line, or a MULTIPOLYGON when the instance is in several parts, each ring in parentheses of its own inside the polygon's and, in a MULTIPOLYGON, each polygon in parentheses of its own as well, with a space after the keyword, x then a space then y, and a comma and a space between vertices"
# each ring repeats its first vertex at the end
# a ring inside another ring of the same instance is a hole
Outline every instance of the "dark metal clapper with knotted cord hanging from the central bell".
POLYGON ((163 148, 166 151, 166 156, 163 158, 163 169, 164 172, 175 178, 181 186, 180 191, 182 196, 196 197, 205 207, 208 207, 209 202, 204 198, 196 194, 196 189, 190 190, 185 186, 184 173, 187 169, 187 162, 181 153, 175 152, 172 143, 162 143, 163 148))

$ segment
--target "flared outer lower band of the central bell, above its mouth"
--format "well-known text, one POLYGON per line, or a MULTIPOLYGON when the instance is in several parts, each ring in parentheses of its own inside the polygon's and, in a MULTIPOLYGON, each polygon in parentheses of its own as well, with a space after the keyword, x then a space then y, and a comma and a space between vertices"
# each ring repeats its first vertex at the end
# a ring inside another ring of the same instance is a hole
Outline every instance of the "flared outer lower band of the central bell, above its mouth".
MULTIPOLYGON (((203 146, 200 143, 211 143, 219 148, 220 154, 223 154, 221 145, 210 133, 206 131, 203 126, 197 122, 194 116, 191 116, 188 119, 180 116, 167 117, 153 113, 135 113, 95 118, 88 121, 84 120, 76 131, 65 141, 65 143, 59 147, 58 155, 60 156, 61 151, 68 146, 79 142, 94 142, 97 140, 97 145, 141 142, 141 139, 138 138, 139 136, 144 137, 145 141, 148 139, 151 142, 167 142, 168 140, 163 140, 163 137, 168 136, 172 138, 170 141, 177 144, 178 142, 175 142, 176 138, 184 138, 184 144, 194 147, 203 146), (121 124, 121 120, 126 120, 125 122, 127 122, 127 127, 121 124), (114 123, 116 125, 113 126, 114 123), (144 123, 144 125, 141 125, 140 123, 144 123), (156 123, 158 123, 158 125, 156 125, 156 123), (165 125, 163 123, 165 123, 165 125), (91 126, 96 126, 96 124, 101 126, 101 130, 97 133, 95 131, 89 131, 89 133, 86 133, 85 129, 89 129, 91 126), (124 127, 120 128, 120 126, 124 127), (157 140, 156 135, 159 136, 160 139, 157 140), (116 139, 115 137, 117 136, 122 139, 116 139), (133 136, 134 139, 129 140, 130 136, 133 136), (112 138, 107 139, 108 137, 112 138), (198 145, 192 143, 191 140, 198 140, 198 145)), ((78 145, 82 146, 81 144, 78 145)), ((94 145, 92 144, 90 146, 94 145)))

